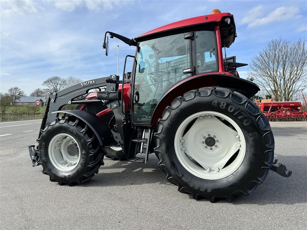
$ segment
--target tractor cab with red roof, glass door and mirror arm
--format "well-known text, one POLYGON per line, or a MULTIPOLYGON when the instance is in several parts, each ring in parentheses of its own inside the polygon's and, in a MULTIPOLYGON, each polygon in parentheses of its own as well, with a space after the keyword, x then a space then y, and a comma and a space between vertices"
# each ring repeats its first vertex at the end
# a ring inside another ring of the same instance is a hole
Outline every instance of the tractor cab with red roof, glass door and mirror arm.
POLYGON ((135 125, 150 125, 161 98, 179 82, 200 75, 233 75, 226 72, 229 61, 227 65, 222 55, 222 48, 230 47, 236 37, 230 13, 213 10, 210 15, 164 25, 134 39, 106 32, 106 54, 108 33, 136 46, 130 96, 135 125))

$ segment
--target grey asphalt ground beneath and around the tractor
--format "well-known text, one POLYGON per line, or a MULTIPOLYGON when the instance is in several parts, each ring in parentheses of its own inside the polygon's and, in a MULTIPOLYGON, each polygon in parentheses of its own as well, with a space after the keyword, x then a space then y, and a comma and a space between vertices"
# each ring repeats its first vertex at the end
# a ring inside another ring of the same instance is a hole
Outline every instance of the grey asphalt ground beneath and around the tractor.
POLYGON ((147 164, 105 158, 91 181, 59 186, 31 167, 40 121, 0 123, 0 229, 307 229, 306 124, 271 123, 290 178, 270 171, 251 195, 210 203, 179 193, 153 154, 147 164))

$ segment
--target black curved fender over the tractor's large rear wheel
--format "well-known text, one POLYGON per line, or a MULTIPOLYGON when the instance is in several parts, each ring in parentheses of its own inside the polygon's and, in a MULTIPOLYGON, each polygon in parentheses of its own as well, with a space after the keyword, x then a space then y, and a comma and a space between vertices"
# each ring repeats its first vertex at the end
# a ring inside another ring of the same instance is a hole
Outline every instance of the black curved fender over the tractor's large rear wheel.
POLYGON ((182 96, 190 90, 196 90, 202 87, 223 87, 232 91, 237 91, 247 98, 251 98, 260 90, 255 83, 228 74, 193 76, 178 82, 164 94, 153 113, 151 126, 157 125, 157 121, 162 117, 164 109, 170 105, 175 98, 182 96))

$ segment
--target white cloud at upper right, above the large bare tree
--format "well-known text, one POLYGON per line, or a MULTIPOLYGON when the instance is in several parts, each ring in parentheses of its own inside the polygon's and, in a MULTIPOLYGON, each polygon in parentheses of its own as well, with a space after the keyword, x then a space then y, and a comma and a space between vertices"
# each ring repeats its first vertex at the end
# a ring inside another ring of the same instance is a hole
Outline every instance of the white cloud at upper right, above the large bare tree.
POLYGON ((278 7, 270 13, 264 15, 262 5, 256 6, 247 12, 246 16, 242 18, 243 24, 248 24, 247 27, 254 27, 265 25, 274 21, 286 21, 292 18, 301 17, 299 10, 294 6, 282 6, 278 7))

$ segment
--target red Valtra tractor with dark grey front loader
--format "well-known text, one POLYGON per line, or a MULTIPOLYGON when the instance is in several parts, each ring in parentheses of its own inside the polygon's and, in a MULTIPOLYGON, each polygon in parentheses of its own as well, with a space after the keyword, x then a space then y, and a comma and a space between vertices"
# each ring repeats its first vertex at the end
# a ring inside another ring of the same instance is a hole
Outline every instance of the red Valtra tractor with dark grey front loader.
POLYGON ((291 175, 273 165, 270 124, 249 100, 259 87, 236 71, 246 64, 223 58, 236 37, 232 14, 213 10, 134 39, 108 31, 106 55, 107 34, 136 47, 126 56, 132 71, 125 73, 125 59, 122 79, 110 75, 49 93, 29 153, 50 181, 81 184, 105 155, 146 163, 151 153, 180 192, 211 202, 250 194, 270 169, 291 175))

